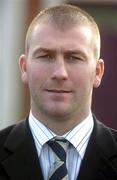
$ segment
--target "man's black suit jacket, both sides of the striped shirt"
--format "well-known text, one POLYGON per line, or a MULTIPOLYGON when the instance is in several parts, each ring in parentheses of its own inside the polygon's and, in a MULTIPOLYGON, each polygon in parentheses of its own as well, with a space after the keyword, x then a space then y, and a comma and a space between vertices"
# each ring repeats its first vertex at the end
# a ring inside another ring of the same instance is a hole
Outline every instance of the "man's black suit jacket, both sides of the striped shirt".
MULTIPOLYGON (((78 180, 117 180, 117 132, 94 122, 78 180)), ((0 180, 43 180, 28 120, 0 132, 0 180)))

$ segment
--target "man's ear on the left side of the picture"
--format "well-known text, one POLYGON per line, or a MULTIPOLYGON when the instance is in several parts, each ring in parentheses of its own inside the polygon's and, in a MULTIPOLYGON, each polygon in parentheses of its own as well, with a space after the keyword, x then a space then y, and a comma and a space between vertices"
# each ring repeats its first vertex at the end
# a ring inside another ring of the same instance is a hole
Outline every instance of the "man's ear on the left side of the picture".
POLYGON ((21 71, 21 79, 27 84, 27 59, 26 55, 22 54, 19 58, 19 66, 21 71))

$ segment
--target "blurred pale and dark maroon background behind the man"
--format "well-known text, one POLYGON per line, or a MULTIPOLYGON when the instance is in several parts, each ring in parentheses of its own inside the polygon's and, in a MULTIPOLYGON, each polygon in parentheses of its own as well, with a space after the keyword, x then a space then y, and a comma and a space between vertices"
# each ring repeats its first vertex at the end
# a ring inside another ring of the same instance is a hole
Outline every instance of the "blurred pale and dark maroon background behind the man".
POLYGON ((100 28, 105 75, 94 90, 92 110, 117 129, 117 0, 0 0, 0 129, 29 112, 28 88, 21 82, 18 65, 27 28, 41 9, 63 3, 87 10, 100 28))

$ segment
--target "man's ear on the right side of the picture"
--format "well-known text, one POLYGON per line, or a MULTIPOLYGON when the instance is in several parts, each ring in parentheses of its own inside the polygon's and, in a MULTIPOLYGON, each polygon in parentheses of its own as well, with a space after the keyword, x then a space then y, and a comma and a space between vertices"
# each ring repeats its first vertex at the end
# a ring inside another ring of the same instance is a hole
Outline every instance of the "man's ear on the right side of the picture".
POLYGON ((94 88, 98 88, 100 86, 103 74, 104 74, 104 61, 103 59, 99 59, 96 64, 94 88))

